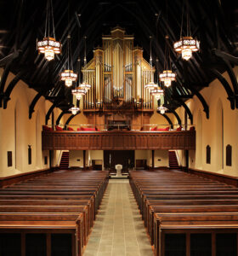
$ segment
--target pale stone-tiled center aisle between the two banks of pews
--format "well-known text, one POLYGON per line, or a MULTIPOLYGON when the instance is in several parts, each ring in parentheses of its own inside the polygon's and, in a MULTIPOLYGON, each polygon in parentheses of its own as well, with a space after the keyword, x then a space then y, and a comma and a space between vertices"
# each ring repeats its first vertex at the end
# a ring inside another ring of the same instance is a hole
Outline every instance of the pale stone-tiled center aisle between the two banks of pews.
POLYGON ((110 179, 83 256, 152 256, 129 181, 110 179))

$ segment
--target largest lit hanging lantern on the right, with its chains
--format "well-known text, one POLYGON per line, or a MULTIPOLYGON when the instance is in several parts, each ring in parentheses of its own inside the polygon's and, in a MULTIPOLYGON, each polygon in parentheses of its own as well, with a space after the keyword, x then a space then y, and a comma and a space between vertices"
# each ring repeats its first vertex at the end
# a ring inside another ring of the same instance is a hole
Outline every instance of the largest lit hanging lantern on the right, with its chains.
POLYGON ((182 11, 182 22, 180 30, 180 39, 178 42, 173 44, 173 49, 178 53, 182 54, 182 58, 186 61, 189 61, 192 57, 192 53, 200 49, 200 42, 191 36, 190 32, 190 11, 189 4, 187 2, 187 35, 182 37, 183 31, 183 18, 184 18, 184 7, 182 11))

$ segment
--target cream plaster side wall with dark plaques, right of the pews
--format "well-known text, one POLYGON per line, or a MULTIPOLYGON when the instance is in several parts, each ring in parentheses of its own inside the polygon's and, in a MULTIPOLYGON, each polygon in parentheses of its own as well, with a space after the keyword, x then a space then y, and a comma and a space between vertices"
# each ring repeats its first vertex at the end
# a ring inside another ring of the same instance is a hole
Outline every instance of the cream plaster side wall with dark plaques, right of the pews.
MULTIPOLYGON (((238 77, 238 67, 234 69, 238 77)), ((224 78, 230 84, 229 76, 224 73, 224 78)), ((233 89, 232 85, 231 88, 233 89)), ((186 102, 194 116, 196 130, 196 151, 190 151, 190 167, 210 172, 224 173, 238 176, 238 109, 232 110, 227 99, 226 91, 218 79, 209 87, 201 90, 210 112, 209 119, 203 111, 201 102, 194 96, 186 102), (222 111, 224 115, 224 143, 222 147, 222 111), (232 146, 232 166, 226 166, 225 148, 232 146), (211 164, 206 162, 206 147, 211 147, 211 164), (224 152, 224 154, 222 154, 224 152), (224 166, 222 166, 224 162, 224 166)))

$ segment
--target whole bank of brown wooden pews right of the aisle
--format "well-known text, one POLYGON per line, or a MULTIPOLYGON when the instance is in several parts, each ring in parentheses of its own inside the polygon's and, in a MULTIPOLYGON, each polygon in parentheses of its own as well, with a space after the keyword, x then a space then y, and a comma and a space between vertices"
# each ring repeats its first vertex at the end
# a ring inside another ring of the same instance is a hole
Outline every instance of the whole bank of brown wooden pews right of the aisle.
MULTIPOLYGON (((147 227, 152 245, 154 240, 156 241, 157 236, 159 236, 158 234, 161 234, 162 229, 166 230, 165 234, 170 234, 169 232, 171 232, 171 230, 173 230, 172 233, 174 234, 181 233, 180 230, 184 227, 180 225, 181 221, 184 219, 182 214, 187 214, 185 215, 187 223, 184 222, 183 224, 187 224, 188 226, 194 224, 189 230, 192 230, 193 234, 197 236, 200 236, 199 230, 201 229, 201 224, 204 230, 209 230, 209 226, 212 225, 213 231, 207 232, 216 234, 216 232, 219 232, 218 227, 221 227, 224 221, 230 220, 232 222, 235 218, 237 220, 238 189, 225 183, 214 182, 184 172, 168 171, 130 172, 130 184, 133 189, 133 195, 139 204, 140 212, 143 215, 144 225, 147 227), (165 214, 173 214, 174 222, 167 220, 166 223, 165 214), (195 216, 193 214, 198 215, 195 216), (219 218, 218 214, 220 214, 219 218), (204 219, 202 219, 202 223, 201 220, 199 220, 199 216, 201 215, 205 216, 204 219), (158 228, 156 227, 156 221, 158 222, 161 216, 163 223, 159 225, 157 223, 158 228), (224 216, 226 217, 224 218, 224 216), (213 219, 212 223, 211 218, 213 219), (217 224, 215 219, 217 220, 217 224), (169 230, 169 228, 171 229, 169 230), (154 236, 156 237, 154 238, 154 236)), ((222 230, 230 235, 232 230, 237 228, 237 222, 232 222, 232 227, 228 226, 228 224, 229 221, 223 225, 222 230)), ((186 233, 185 237, 190 237, 190 233, 186 233)), ((214 237, 212 239, 214 240, 214 237)), ((164 242, 165 241, 161 240, 161 247, 169 247, 166 242, 164 242)), ((212 249, 212 254, 193 254, 192 251, 190 252, 190 243, 186 242, 186 244, 185 253, 180 252, 180 254, 176 254, 173 251, 169 252, 167 249, 161 250, 160 247, 161 251, 160 253, 156 252, 156 255, 216 255, 214 248, 212 249)), ((214 241, 213 244, 216 246, 214 241)), ((237 242, 235 244, 237 245, 237 242)), ((155 244, 155 247, 156 250, 159 250, 157 244, 155 244)), ((175 247, 175 245, 172 245, 172 247, 175 247)), ((178 250, 178 248, 175 249, 178 250)), ((237 256, 237 254, 235 254, 235 256, 237 256)))

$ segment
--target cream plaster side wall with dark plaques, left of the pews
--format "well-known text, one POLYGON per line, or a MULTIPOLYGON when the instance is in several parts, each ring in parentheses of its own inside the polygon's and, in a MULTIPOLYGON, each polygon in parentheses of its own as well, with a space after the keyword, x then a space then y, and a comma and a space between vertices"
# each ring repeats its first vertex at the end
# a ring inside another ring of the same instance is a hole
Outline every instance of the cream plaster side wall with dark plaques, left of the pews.
MULTIPOLYGON (((12 79, 14 74, 9 73, 5 90, 12 79)), ((52 103, 41 97, 35 106, 32 118, 29 119, 29 107, 36 95, 37 91, 30 89, 20 80, 12 91, 8 108, 0 108, 0 177, 32 172, 49 166, 49 159, 48 165, 44 165, 43 161, 44 156, 48 156, 49 153, 42 151, 41 133, 45 114, 52 103), (28 164, 28 145, 31 145, 31 165, 28 164), (12 151, 13 154, 13 165, 9 167, 8 151, 12 151)), ((61 110, 55 109, 54 112, 60 113, 61 110)))

